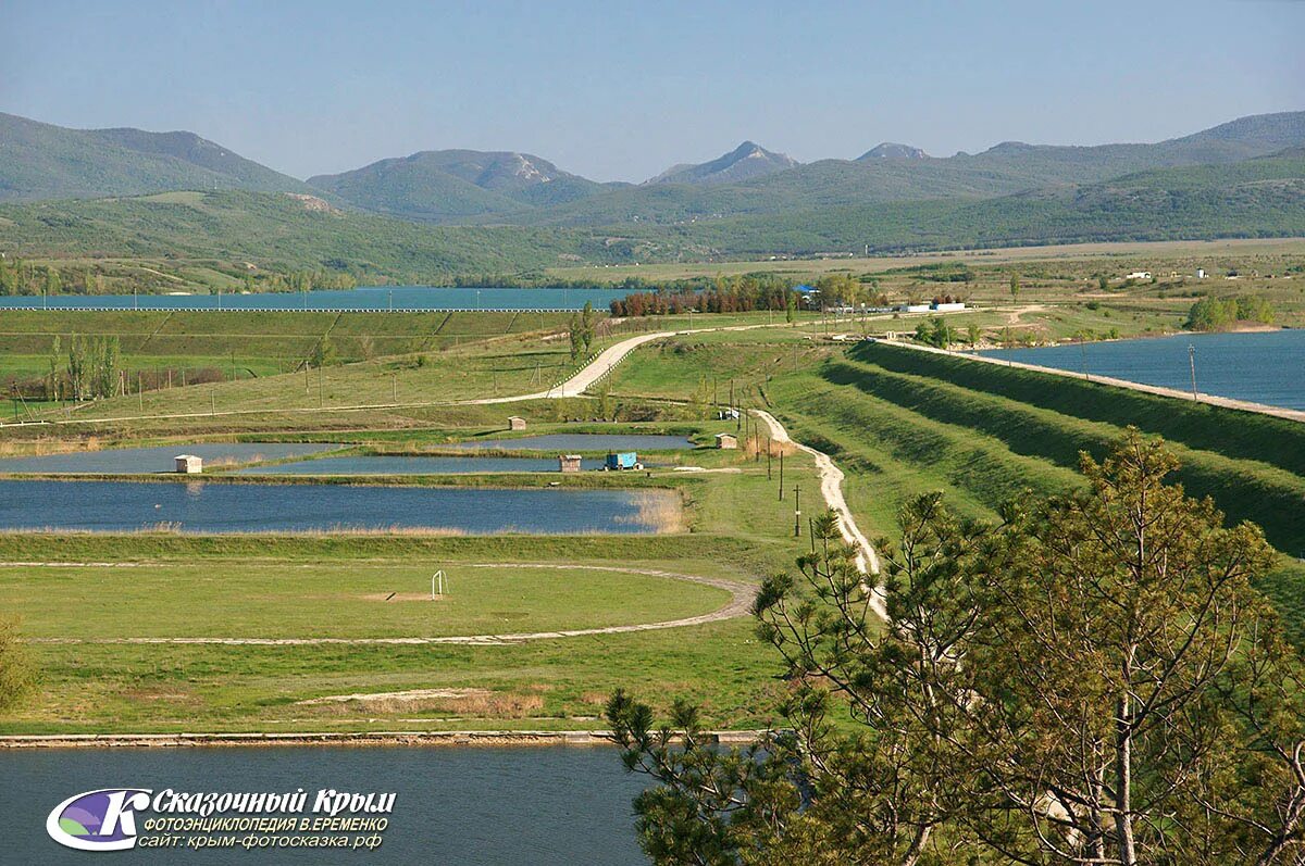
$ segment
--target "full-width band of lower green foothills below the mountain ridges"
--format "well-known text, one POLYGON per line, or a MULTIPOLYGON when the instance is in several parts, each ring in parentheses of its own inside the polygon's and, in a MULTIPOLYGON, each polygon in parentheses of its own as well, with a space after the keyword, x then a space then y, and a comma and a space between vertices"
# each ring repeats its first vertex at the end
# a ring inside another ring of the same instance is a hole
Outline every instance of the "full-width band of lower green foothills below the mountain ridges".
MULTIPOLYGON (((676 189, 673 185, 667 190, 676 189)), ((1305 151, 996 198, 885 202, 684 226, 435 227, 283 193, 167 193, 0 206, 0 252, 189 257, 361 282, 559 263, 1100 240, 1305 236, 1305 151)))

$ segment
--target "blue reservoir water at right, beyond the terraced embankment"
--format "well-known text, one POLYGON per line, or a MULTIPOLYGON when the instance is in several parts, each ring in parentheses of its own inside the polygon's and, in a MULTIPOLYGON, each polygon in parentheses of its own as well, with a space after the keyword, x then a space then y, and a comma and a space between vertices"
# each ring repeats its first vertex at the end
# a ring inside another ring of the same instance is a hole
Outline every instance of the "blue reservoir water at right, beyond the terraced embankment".
POLYGON ((1191 389, 1188 347, 1195 348, 1197 390, 1238 400, 1305 410, 1305 330, 1181 334, 1043 348, 994 350, 990 357, 1091 376, 1191 389))

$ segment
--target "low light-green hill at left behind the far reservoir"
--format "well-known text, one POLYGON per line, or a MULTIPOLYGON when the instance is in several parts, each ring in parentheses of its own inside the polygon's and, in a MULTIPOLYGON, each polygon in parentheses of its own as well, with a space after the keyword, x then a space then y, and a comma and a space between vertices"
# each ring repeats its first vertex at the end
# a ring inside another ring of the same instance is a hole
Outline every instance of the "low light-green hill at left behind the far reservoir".
POLYGON ((437 228, 284 193, 164 193, 0 206, 0 250, 30 257, 164 257, 334 270, 371 279, 539 269, 633 248, 574 230, 437 228), (562 258, 562 257, 568 258, 562 258))

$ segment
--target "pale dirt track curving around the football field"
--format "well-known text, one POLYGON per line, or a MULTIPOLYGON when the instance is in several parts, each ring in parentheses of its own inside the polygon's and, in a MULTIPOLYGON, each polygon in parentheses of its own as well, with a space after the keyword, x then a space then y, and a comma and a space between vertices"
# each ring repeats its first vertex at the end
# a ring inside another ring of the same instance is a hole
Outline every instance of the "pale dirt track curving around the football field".
POLYGON ((522 631, 509 634, 475 634, 475 635, 441 635, 435 638, 30 638, 27 643, 43 644, 201 644, 201 646, 230 646, 230 647, 316 647, 316 646, 428 646, 428 644, 458 644, 458 646, 504 646, 513 643, 529 643, 531 640, 552 640, 555 638, 582 638, 596 634, 628 634, 634 631, 656 631, 660 629, 680 629, 683 626, 701 626, 722 620, 748 616, 752 612, 753 599, 757 596, 757 587, 741 580, 727 578, 705 578, 693 574, 680 574, 676 571, 660 571, 656 569, 628 569, 619 566, 599 565, 566 565, 556 562, 474 562, 463 563, 458 567, 470 569, 557 569, 557 570, 590 570, 615 571, 619 574, 638 574, 654 578, 667 578, 671 580, 684 580, 706 587, 726 590, 731 593, 729 601, 709 613, 680 620, 664 620, 662 622, 638 622, 624 626, 603 626, 598 629, 565 629, 559 631, 522 631))

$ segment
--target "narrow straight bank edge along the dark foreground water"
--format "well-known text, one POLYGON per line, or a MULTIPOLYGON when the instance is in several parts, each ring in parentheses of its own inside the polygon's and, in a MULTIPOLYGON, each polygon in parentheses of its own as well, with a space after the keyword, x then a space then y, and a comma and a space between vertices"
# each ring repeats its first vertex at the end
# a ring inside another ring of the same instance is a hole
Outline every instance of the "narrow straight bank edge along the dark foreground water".
MULTIPOLYGON (((710 730, 718 745, 756 742, 762 730, 710 730)), ((228 749, 313 746, 540 747, 613 746, 609 730, 381 730, 322 733, 4 734, 8 749, 228 749)))

